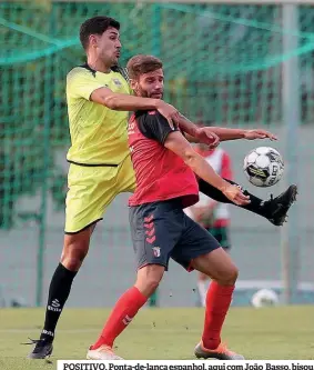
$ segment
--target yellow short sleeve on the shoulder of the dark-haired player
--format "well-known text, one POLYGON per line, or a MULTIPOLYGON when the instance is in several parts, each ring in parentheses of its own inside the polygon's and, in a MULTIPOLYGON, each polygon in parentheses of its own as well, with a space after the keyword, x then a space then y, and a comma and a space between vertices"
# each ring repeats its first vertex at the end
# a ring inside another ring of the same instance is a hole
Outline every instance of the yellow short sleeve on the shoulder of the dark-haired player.
POLYGON ((91 71, 83 68, 72 70, 67 77, 67 92, 73 98, 90 100, 92 92, 100 88, 105 86, 97 81, 91 71))

